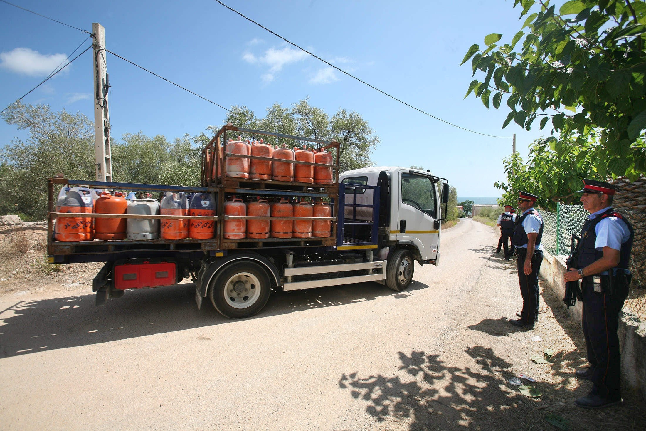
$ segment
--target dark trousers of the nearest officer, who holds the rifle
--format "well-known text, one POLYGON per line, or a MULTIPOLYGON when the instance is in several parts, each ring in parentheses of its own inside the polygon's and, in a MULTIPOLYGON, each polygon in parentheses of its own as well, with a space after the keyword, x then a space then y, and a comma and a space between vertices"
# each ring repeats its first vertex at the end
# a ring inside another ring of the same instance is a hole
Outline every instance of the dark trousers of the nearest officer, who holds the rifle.
POLYGON ((607 399, 621 397, 621 357, 619 353, 619 313, 628 296, 628 286, 614 295, 595 293, 586 280, 583 290, 583 336, 592 366, 592 392, 607 399))

